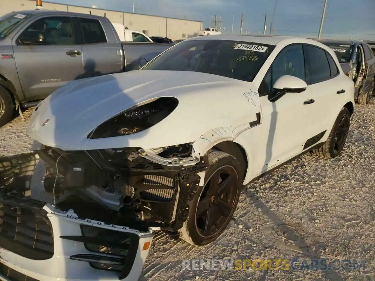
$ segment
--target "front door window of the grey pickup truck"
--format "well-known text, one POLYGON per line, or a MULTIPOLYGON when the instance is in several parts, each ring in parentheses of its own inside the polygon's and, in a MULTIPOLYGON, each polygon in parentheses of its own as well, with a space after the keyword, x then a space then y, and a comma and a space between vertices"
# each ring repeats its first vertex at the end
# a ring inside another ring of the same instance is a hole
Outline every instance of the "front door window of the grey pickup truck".
POLYGON ((45 38, 48 45, 74 45, 71 18, 54 16, 38 19, 30 24, 19 38, 38 42, 41 37, 45 38))

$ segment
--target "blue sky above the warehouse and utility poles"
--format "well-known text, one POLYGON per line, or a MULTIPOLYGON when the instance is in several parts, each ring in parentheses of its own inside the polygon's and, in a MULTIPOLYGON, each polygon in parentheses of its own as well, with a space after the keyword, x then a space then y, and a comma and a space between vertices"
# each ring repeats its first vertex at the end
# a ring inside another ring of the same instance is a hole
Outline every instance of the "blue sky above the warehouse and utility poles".
MULTIPOLYGON (((132 12, 132 0, 48 0, 77 6, 93 5, 102 9, 132 12)), ((267 13, 267 33, 270 21, 277 34, 317 37, 324 0, 134 0, 135 12, 139 3, 141 13, 198 19, 204 27, 212 25, 213 15, 221 17, 223 33, 230 33, 234 12, 234 33, 240 31, 243 13, 243 31, 263 33, 267 13), (273 11, 276 9, 273 18, 273 11)), ((353 38, 375 40, 374 0, 328 0, 323 25, 324 38, 353 38)))

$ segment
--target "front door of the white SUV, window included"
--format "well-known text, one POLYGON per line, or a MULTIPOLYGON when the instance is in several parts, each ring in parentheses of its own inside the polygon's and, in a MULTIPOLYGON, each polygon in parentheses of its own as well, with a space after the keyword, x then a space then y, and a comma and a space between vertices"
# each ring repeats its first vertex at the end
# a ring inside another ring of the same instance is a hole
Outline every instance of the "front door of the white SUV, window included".
POLYGON ((269 101, 273 84, 283 75, 306 80, 303 46, 285 47, 273 61, 259 88, 262 124, 252 129, 255 149, 254 176, 285 162, 303 151, 311 137, 309 127, 314 122, 314 93, 309 88, 302 93, 286 93, 275 102, 269 101))

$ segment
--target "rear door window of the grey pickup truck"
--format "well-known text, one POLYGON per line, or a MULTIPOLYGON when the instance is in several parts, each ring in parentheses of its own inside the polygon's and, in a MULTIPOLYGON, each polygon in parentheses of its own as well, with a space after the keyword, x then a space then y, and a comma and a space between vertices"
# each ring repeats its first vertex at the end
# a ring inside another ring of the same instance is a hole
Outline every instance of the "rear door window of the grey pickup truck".
POLYGON ((103 27, 97 19, 80 18, 80 21, 85 44, 107 42, 103 27))

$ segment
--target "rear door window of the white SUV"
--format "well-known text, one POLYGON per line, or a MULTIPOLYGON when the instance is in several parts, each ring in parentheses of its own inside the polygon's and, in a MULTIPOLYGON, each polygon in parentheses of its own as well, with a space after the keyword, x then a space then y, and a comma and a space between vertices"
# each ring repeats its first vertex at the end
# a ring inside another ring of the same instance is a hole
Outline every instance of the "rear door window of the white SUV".
POLYGON ((326 51, 306 46, 308 66, 306 69, 306 83, 308 85, 323 82, 331 78, 331 68, 328 63, 326 51))

